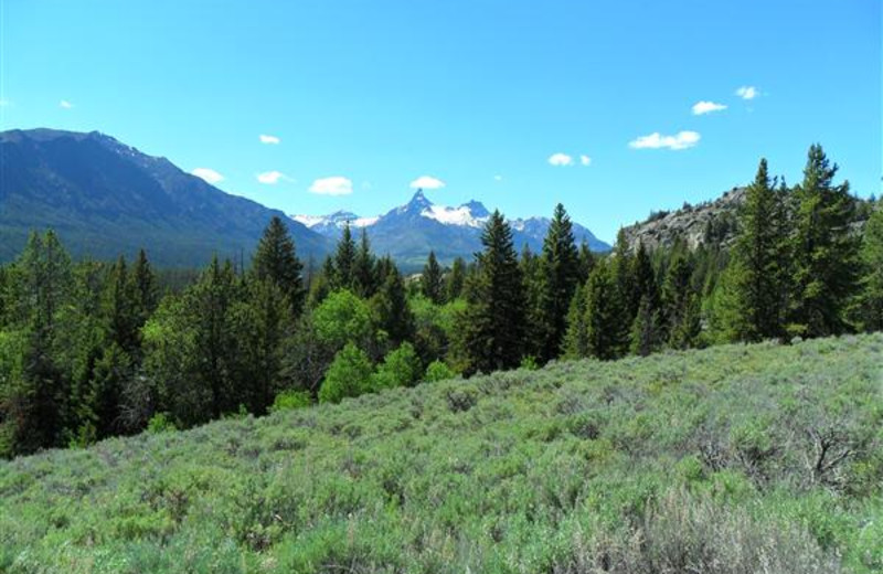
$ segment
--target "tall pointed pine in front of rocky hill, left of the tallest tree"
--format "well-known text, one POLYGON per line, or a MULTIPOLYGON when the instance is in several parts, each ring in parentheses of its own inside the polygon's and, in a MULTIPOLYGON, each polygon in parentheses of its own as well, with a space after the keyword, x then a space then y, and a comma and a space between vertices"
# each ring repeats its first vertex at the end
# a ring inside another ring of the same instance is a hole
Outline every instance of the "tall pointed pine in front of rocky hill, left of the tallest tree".
POLYGON ((760 160, 757 176, 748 185, 740 214, 740 235, 730 265, 733 304, 727 332, 741 341, 759 341, 784 336, 785 309, 781 285, 787 237, 781 194, 770 182, 767 162, 760 160))

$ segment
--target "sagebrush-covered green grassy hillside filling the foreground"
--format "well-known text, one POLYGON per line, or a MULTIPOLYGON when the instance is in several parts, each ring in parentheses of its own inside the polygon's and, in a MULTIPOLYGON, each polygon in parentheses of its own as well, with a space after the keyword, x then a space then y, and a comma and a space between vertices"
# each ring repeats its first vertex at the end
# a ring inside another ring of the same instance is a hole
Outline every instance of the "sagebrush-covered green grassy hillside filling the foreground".
POLYGON ((883 336, 557 363, 0 463, 9 572, 883 572, 883 336))

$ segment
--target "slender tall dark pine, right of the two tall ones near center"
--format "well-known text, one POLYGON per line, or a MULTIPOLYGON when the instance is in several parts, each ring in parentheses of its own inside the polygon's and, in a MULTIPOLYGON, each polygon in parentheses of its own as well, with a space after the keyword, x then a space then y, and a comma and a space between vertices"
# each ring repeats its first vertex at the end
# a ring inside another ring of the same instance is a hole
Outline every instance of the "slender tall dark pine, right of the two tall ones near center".
POLYGON ((543 241, 541 257, 539 359, 546 362, 561 354, 567 330, 567 310, 579 283, 579 252, 573 238, 571 217, 558 203, 543 241))

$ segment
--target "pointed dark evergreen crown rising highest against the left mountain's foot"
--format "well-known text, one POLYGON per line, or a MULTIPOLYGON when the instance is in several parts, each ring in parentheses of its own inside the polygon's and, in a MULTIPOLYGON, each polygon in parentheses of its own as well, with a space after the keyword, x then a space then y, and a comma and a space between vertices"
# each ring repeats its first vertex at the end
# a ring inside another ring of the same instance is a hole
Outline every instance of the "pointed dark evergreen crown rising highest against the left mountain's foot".
POLYGON ((304 310, 306 288, 302 278, 304 265, 295 252, 295 242, 288 226, 274 215, 257 244, 252 273, 258 280, 273 281, 288 298, 295 316, 304 310))

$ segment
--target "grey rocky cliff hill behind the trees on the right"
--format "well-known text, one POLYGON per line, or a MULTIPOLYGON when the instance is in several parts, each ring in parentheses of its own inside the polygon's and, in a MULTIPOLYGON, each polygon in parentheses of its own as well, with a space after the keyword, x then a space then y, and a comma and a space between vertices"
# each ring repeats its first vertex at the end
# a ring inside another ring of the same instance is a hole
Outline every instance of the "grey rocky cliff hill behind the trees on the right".
POLYGON ((730 243, 735 236, 736 214, 745 201, 745 188, 733 188, 714 201, 684 205, 671 212, 655 212, 646 221, 623 227, 632 249, 671 247, 683 241, 691 249, 705 243, 730 243))

